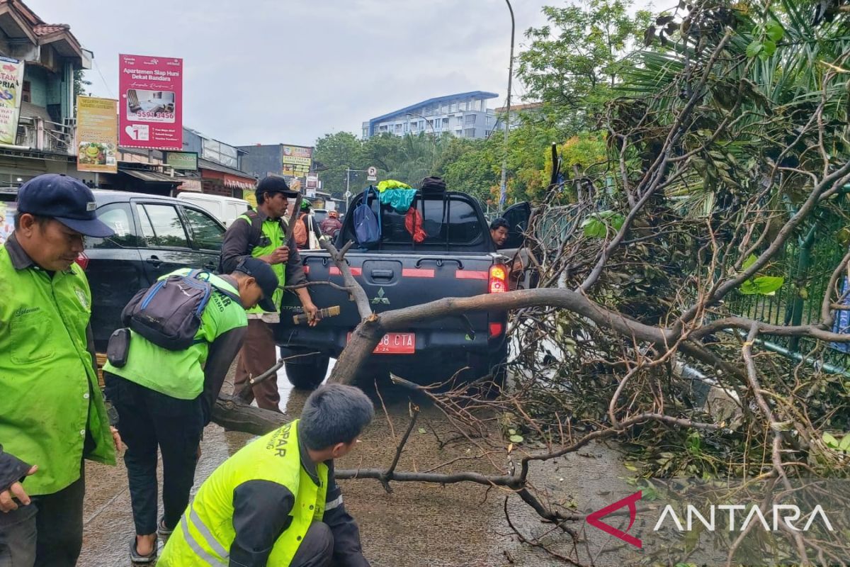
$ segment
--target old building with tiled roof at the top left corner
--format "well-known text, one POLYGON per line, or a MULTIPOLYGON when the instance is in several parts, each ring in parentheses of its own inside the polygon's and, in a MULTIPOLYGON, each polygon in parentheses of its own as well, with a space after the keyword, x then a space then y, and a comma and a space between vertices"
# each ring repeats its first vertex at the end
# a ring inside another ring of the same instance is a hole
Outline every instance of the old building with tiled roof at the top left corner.
POLYGON ((75 72, 91 67, 65 24, 48 24, 20 0, 0 0, 0 55, 25 61, 14 145, 0 145, 0 187, 39 173, 69 173, 76 162, 75 72))

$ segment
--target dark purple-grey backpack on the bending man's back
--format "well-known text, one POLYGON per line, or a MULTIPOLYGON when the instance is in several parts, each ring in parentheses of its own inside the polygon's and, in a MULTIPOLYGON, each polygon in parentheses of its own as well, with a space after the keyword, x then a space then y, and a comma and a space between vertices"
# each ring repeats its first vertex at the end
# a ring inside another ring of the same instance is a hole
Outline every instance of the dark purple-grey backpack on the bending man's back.
MULTIPOLYGON (((127 326, 151 343, 168 350, 188 349, 195 343, 201 315, 207 309, 212 284, 202 279, 210 273, 193 269, 187 275, 169 275, 140 290, 121 312, 127 326)), ((219 287, 215 290, 240 301, 238 295, 219 287)))

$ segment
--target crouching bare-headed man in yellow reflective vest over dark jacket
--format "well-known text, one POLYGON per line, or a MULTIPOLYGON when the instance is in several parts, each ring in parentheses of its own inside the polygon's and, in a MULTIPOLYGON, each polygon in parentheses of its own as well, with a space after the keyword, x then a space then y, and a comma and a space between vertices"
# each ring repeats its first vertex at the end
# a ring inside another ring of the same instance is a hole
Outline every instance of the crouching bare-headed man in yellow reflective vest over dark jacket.
POLYGON ((252 441, 210 475, 157 565, 368 567, 333 460, 354 448, 372 414, 359 388, 320 386, 301 419, 252 441))

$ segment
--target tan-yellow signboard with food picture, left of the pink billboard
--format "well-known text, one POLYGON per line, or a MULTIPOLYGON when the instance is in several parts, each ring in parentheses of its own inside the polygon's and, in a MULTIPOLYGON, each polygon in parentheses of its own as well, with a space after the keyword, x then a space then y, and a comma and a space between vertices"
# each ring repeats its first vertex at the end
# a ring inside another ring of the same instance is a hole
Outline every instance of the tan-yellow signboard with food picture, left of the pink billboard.
POLYGON ((77 97, 77 171, 117 173, 118 101, 77 97))

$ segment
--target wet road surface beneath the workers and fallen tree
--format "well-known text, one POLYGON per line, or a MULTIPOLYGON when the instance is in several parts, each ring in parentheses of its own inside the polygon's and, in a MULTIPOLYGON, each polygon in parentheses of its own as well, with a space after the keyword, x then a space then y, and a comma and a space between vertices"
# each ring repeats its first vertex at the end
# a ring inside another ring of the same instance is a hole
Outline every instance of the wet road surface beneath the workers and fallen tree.
MULTIPOLYGON (((299 415, 306 394, 292 390, 284 371, 278 384, 281 407, 290 416, 299 415)), ((409 391, 384 384, 358 384, 376 402, 376 418, 362 435, 356 451, 337 462, 337 468, 386 468, 392 462, 396 443, 409 422, 409 391), (377 395, 382 396, 382 401, 377 395), (382 409, 386 406, 386 413, 382 409), (390 428, 390 422, 392 428, 390 428)), ((228 388, 228 386, 225 386, 228 388)), ((399 462, 399 471, 425 471, 439 464, 460 459, 441 472, 494 469, 484 462, 464 460, 477 451, 467 441, 450 443, 440 449, 436 437, 446 439, 453 432, 446 417, 432 405, 416 400, 422 412, 399 462), (420 432, 423 428, 425 433, 420 432)), ((497 443, 496 431, 489 434, 497 443)), ((195 489, 203 479, 244 446, 252 436, 211 424, 204 432, 202 454, 195 473, 195 489)), ((536 466, 535 484, 557 502, 581 502, 588 490, 608 494, 615 490, 624 496, 629 489, 617 474, 623 469, 613 451, 598 448, 596 454, 581 451, 569 459, 558 459, 536 466), (618 468, 619 470, 612 470, 618 468), (612 482, 612 479, 613 482, 612 482), (612 487, 612 485, 614 485, 612 487)), ((501 464, 507 459, 502 450, 492 456, 501 464)), ((160 471, 161 474, 161 471, 160 471)), ((133 519, 130 511, 127 476, 122 461, 115 468, 87 462, 87 499, 84 510, 84 541, 79 564, 91 567, 130 565, 127 549, 133 539, 133 519)), ((161 478, 161 477, 160 477, 161 478)), ((557 558, 519 541, 505 519, 504 502, 507 491, 488 490, 481 485, 431 485, 425 483, 394 483, 388 493, 377 480, 341 480, 346 507, 360 524, 365 556, 375 567, 411 566, 546 566, 564 564, 557 558)), ((194 493, 194 491, 193 491, 194 493)), ((607 497, 607 496, 606 496, 607 497)), ((519 498, 509 498, 508 512, 513 524, 525 536, 541 536, 552 530, 519 498)), ((581 524, 576 526, 581 529, 581 524)), ((593 530, 591 530, 593 531, 593 530)), ((601 544, 601 532, 588 533, 594 544, 601 544)), ((568 553, 567 541, 561 536, 547 537, 553 549, 568 553)), ((618 564, 604 557, 597 564, 618 564)), ((622 565, 622 563, 619 563, 622 565)))

